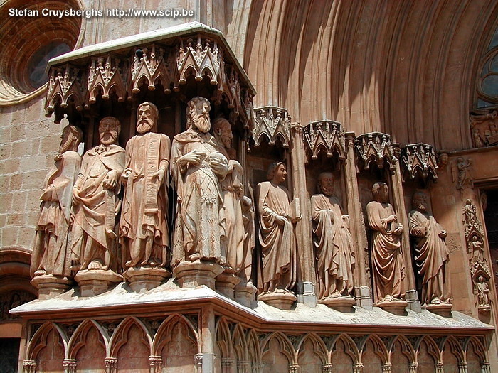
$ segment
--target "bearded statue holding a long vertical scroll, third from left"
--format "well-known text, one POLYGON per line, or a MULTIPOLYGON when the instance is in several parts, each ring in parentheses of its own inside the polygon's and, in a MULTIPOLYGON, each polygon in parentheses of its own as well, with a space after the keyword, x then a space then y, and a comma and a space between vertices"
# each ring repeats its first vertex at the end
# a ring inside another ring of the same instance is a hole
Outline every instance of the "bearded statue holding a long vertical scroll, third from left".
POLYGON ((140 104, 137 135, 126 145, 120 242, 124 265, 133 269, 127 271, 128 276, 136 269, 164 269, 169 260, 166 216, 170 140, 165 134, 157 134, 158 117, 154 104, 140 104))

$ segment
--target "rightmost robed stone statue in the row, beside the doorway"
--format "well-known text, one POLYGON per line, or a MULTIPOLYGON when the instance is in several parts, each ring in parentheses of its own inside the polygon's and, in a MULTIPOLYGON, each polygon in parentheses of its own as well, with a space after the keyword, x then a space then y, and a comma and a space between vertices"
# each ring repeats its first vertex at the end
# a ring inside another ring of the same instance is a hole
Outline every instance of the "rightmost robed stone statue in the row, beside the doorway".
POLYGON ((408 214, 410 234, 415 239, 415 261, 422 276, 422 304, 450 303, 447 262, 450 256, 446 231, 429 212, 428 195, 413 195, 413 210, 408 214))

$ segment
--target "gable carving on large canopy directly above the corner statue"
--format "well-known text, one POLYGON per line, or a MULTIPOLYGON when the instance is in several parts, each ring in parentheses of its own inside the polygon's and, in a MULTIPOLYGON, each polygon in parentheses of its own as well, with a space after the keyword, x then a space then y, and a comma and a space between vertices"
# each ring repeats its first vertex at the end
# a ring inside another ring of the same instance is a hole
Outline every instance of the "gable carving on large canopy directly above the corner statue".
POLYGON ((182 39, 176 64, 180 84, 185 84, 186 77, 192 74, 195 75, 198 82, 202 80, 203 76, 207 76, 212 85, 217 85, 218 80, 221 80, 223 53, 219 53, 216 42, 212 44, 211 40, 202 39, 201 36, 198 36, 195 44, 191 38, 182 39))

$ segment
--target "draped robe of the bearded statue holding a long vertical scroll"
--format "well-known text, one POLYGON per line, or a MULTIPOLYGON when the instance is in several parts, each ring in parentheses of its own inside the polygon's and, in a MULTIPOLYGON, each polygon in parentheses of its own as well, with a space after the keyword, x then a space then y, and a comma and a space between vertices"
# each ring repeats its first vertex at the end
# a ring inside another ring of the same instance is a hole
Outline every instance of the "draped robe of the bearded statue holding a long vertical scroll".
POLYGON ((129 168, 132 172, 124 188, 122 202, 120 242, 123 262, 132 259, 137 264, 144 261, 153 261, 161 266, 167 264, 169 149, 169 137, 155 132, 137 134, 126 144, 125 169, 129 168), (164 170, 164 182, 158 188, 157 180, 152 181, 152 175, 159 168, 164 170), (154 237, 150 253, 145 244, 139 248, 132 244, 134 239, 149 237, 147 232, 154 237))

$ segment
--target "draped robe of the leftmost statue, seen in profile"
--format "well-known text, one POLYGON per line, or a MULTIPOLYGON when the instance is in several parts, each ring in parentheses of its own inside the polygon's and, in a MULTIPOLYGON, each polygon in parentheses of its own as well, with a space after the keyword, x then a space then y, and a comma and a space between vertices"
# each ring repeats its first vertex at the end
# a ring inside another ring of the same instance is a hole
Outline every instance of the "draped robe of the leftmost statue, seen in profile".
POLYGON ((51 190, 51 200, 41 202, 36 228, 36 244, 31 257, 31 276, 38 270, 54 276, 70 276, 71 195, 80 171, 81 156, 75 151, 58 155, 44 187, 51 190))

